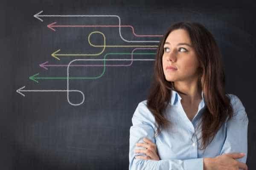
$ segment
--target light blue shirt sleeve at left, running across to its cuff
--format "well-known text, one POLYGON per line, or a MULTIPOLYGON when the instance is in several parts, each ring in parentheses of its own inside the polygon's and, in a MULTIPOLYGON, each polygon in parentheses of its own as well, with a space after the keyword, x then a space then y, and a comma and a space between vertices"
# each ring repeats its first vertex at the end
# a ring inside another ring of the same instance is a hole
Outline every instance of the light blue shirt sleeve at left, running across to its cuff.
POLYGON ((144 160, 136 159, 134 156, 144 153, 134 153, 136 143, 143 143, 143 137, 155 143, 156 126, 154 116, 148 110, 144 102, 140 102, 132 117, 129 140, 129 170, 203 170, 203 158, 198 159, 165 159, 165 160, 144 160))

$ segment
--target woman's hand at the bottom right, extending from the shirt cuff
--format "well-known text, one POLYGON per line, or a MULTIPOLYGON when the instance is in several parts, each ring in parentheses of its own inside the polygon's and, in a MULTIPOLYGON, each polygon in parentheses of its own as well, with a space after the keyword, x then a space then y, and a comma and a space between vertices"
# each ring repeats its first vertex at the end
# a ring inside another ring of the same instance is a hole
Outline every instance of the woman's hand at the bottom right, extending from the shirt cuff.
POLYGON ((241 153, 226 153, 214 158, 204 158, 204 170, 247 170, 247 165, 236 159, 244 157, 241 153))

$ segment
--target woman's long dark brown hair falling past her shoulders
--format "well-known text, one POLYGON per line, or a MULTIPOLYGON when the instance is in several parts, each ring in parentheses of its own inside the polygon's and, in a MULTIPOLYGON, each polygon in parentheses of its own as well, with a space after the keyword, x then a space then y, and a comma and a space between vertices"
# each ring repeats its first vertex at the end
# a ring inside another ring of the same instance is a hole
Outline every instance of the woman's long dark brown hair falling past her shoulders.
POLYGON ((205 109, 200 123, 202 125, 201 138, 203 139, 201 149, 205 149, 212 142, 227 117, 232 118, 233 108, 229 96, 225 93, 225 74, 221 52, 212 34, 200 23, 174 23, 163 36, 157 48, 154 79, 148 95, 147 107, 155 117, 157 133, 169 127, 171 122, 166 119, 164 113, 170 102, 171 90, 174 89, 174 86, 173 82, 165 79, 162 57, 166 38, 175 29, 184 29, 188 32, 200 63, 198 84, 203 91, 205 100, 205 109))

